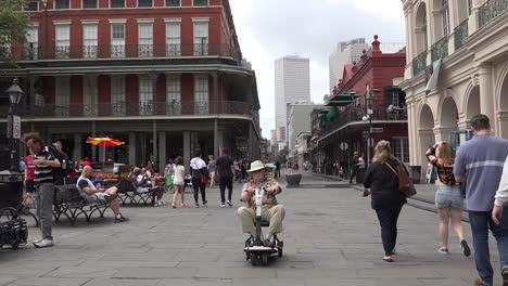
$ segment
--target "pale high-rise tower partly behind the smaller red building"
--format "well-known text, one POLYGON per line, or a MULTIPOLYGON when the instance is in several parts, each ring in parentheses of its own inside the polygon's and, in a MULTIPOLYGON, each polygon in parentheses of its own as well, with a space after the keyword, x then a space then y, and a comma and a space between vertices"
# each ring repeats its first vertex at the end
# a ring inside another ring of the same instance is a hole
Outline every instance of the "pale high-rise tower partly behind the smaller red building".
POLYGON ((342 78, 344 65, 359 62, 361 51, 368 48, 369 44, 365 42, 365 38, 352 39, 347 42, 339 42, 336 44, 336 50, 330 54, 328 60, 330 69, 330 93, 333 93, 333 87, 335 87, 339 79, 342 78))

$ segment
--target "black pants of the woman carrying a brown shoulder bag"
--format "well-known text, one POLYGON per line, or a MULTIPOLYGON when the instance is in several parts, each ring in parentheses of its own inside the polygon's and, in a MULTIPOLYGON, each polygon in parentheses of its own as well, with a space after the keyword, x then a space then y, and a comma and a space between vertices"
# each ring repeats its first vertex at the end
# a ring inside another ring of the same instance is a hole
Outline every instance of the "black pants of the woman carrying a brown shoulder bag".
POLYGON ((384 255, 391 256, 397 244, 397 220, 403 206, 377 209, 378 220, 381 224, 381 239, 383 240, 384 255))

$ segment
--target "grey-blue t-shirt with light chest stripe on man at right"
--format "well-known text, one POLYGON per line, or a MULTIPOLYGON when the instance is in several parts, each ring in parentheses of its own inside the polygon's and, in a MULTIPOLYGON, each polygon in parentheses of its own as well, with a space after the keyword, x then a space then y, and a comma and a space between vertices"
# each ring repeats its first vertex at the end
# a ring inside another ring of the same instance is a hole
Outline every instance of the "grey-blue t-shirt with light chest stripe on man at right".
POLYGON ((508 140, 492 134, 474 135, 459 147, 454 173, 467 177, 469 210, 492 210, 507 155, 508 140))

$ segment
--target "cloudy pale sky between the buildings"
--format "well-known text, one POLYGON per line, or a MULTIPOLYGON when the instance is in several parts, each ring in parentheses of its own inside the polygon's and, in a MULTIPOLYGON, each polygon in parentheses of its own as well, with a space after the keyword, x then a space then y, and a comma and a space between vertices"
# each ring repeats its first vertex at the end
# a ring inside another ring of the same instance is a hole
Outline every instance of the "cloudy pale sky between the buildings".
POLYGON ((256 72, 263 136, 275 129, 274 62, 310 58, 310 100, 329 93, 328 56, 340 41, 405 42, 401 0, 229 0, 243 57, 256 72))

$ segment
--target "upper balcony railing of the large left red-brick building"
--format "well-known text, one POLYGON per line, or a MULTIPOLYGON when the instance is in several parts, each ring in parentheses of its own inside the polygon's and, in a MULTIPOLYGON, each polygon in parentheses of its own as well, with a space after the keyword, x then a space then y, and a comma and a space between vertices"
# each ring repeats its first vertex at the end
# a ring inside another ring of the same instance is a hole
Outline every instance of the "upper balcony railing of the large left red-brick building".
POLYGON ((230 56, 241 62, 240 51, 224 43, 12 47, 11 53, 21 61, 230 56))

